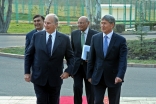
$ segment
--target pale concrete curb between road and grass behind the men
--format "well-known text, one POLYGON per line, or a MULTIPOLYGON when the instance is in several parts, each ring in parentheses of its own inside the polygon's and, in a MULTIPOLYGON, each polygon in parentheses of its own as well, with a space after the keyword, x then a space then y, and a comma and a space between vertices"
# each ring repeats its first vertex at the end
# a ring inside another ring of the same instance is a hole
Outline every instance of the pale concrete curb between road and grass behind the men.
MULTIPOLYGON (((3 53, 3 52, 0 52, 0 56, 24 59, 24 55, 17 55, 17 54, 3 53)), ((66 63, 66 60, 64 59, 63 62, 66 63)), ((134 63, 128 63, 127 66, 128 67, 140 67, 140 68, 156 68, 156 64, 134 64, 134 63)))

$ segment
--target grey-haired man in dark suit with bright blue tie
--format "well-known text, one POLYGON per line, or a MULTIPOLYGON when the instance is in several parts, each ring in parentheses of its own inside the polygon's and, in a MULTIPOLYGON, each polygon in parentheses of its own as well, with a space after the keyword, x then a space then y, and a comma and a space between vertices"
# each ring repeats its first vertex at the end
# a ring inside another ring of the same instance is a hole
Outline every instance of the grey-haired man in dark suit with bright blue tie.
POLYGON ((126 39, 113 32, 115 18, 105 15, 101 33, 92 37, 87 78, 94 87, 95 104, 103 104, 108 88, 109 104, 119 104, 121 85, 127 68, 126 39))

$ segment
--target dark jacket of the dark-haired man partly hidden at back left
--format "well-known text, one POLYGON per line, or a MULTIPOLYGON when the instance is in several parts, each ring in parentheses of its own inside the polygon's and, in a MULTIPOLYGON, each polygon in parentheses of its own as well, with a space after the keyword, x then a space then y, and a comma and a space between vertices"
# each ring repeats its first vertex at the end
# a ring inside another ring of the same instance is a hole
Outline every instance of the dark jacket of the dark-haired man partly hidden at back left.
POLYGON ((32 31, 30 31, 27 35, 26 35, 26 41, 25 41, 25 53, 26 53, 26 51, 27 51, 27 49, 28 49, 28 47, 29 47, 29 45, 30 45, 30 42, 31 42, 31 39, 32 39, 32 36, 33 36, 33 34, 34 33, 36 33, 37 32, 37 30, 36 29, 34 29, 34 30, 32 30, 32 31))

